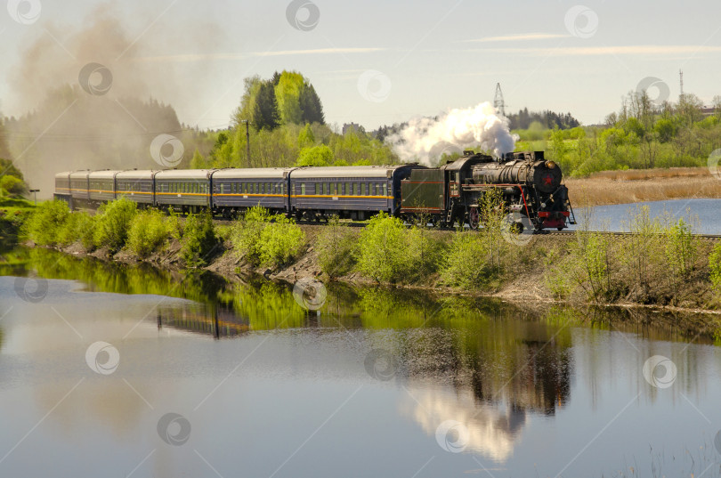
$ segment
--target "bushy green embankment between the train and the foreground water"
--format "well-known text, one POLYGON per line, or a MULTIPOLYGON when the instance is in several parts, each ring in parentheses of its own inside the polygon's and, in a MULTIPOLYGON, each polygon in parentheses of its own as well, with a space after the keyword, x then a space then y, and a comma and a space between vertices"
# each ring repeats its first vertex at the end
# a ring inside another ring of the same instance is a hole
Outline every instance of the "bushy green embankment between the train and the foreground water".
POLYGON ((483 205, 487 227, 471 232, 409 228, 387 215, 365 228, 338 221, 301 226, 260 207, 219 226, 209 215, 138 211, 126 200, 93 216, 48 202, 21 230, 37 245, 74 254, 224 275, 255 271, 289 282, 322 276, 523 300, 721 309, 721 242, 695 237, 689 220, 652 220, 638 208, 628 217, 634 236, 526 236, 505 231, 496 206, 483 205))

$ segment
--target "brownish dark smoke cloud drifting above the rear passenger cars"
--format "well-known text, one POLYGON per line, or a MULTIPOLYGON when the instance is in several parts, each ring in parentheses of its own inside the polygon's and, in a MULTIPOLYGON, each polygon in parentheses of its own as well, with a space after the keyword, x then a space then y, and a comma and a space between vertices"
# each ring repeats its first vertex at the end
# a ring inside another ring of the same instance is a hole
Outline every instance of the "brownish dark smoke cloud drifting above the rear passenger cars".
POLYGON ((143 33, 149 19, 131 23, 114 4, 102 4, 79 27, 51 20, 24 42, 20 63, 8 73, 11 98, 4 101, 20 117, 6 119, 4 129, 15 165, 42 197, 51 196, 60 171, 158 169, 150 158, 153 138, 183 139, 174 108, 158 101, 184 107, 204 86, 208 65, 196 62, 189 75, 175 63, 143 59, 212 53, 222 35, 215 25, 170 19, 143 33))

